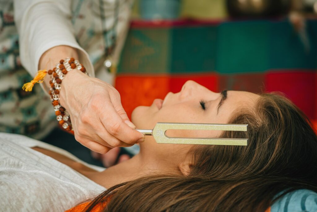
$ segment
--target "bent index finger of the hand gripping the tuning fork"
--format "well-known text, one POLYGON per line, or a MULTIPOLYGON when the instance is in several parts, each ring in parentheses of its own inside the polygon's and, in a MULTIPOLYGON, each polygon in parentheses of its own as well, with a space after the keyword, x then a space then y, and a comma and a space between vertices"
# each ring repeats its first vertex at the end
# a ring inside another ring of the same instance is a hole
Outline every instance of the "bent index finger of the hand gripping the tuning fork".
POLYGON ((114 137, 125 143, 137 143, 144 141, 144 134, 129 127, 124 123, 121 116, 114 109, 111 102, 107 102, 103 107, 104 112, 99 114, 99 119, 105 129, 114 137))

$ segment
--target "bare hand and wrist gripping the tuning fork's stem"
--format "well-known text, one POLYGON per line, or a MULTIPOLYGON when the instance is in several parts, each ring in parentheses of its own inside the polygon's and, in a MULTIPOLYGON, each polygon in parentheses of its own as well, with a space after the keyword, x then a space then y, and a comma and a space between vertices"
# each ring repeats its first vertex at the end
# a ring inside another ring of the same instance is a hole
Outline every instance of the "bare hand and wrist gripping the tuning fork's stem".
MULTIPOLYGON (((39 69, 53 68, 66 57, 77 59, 77 50, 69 46, 53 47, 41 56, 39 69)), ((45 77, 43 83, 46 90, 49 78, 45 77)), ((95 152, 104 154, 114 147, 144 141, 144 135, 134 130, 129 121, 119 92, 97 78, 79 70, 69 71, 61 84, 60 103, 70 114, 75 139, 95 152)))

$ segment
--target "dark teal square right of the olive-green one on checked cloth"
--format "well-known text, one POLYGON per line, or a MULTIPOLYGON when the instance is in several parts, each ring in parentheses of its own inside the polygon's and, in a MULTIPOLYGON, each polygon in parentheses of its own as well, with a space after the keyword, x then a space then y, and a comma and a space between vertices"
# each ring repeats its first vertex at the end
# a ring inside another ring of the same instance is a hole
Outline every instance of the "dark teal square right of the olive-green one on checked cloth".
POLYGON ((171 37, 171 72, 215 70, 217 26, 174 28, 171 37))

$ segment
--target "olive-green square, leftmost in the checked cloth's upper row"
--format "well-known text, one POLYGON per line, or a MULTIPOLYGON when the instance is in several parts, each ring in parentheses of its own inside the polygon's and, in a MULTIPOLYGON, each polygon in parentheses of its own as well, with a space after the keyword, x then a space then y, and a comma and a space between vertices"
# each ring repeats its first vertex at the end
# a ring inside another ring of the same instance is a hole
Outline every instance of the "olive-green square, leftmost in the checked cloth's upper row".
POLYGON ((166 73, 170 60, 170 29, 131 29, 118 73, 166 73))

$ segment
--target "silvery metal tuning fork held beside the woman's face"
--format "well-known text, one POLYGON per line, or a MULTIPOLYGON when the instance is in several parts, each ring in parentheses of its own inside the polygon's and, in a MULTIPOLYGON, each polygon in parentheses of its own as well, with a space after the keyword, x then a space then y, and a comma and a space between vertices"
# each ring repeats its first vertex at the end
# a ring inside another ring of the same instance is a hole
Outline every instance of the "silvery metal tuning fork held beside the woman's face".
POLYGON ((153 136, 157 143, 173 144, 207 144, 207 145, 234 145, 247 146, 246 138, 186 138, 169 137, 166 130, 189 129, 189 130, 224 130, 224 131, 247 131, 248 124, 207 124, 207 123, 164 123, 159 122, 153 129, 136 129, 146 136, 153 136))

